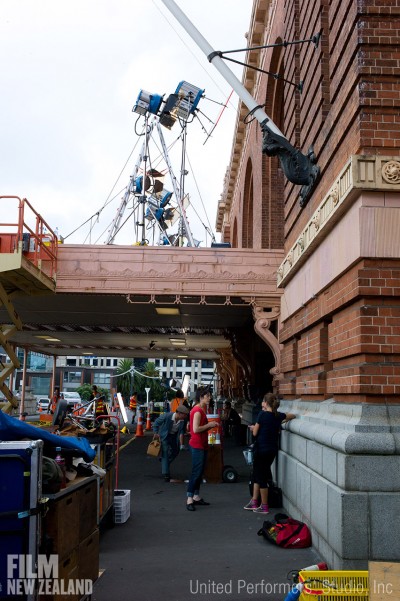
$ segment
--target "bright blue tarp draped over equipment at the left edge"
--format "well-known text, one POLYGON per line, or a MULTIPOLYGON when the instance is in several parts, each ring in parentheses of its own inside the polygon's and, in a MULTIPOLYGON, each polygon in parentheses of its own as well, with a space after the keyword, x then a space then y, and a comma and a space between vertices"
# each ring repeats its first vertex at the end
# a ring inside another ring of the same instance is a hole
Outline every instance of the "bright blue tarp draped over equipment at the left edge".
POLYGON ((0 411, 0 440, 43 440, 46 444, 62 449, 76 450, 77 457, 83 457, 85 461, 91 462, 96 456, 96 451, 92 449, 86 438, 76 436, 57 436, 46 432, 42 428, 36 428, 26 422, 7 415, 0 411))

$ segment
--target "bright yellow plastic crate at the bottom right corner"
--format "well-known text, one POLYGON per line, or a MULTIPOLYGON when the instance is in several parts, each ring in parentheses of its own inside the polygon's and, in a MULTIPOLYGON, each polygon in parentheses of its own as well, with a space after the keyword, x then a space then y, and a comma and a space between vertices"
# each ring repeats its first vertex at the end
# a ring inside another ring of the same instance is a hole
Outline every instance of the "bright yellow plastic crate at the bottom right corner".
POLYGON ((369 598, 368 571, 302 571, 301 601, 363 601, 369 598))

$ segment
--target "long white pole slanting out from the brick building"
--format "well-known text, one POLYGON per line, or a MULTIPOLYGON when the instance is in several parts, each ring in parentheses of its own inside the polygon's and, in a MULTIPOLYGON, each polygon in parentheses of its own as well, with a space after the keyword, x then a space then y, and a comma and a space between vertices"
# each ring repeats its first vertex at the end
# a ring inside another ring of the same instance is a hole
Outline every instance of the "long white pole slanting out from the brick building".
POLYGON ((188 17, 182 12, 179 6, 174 0, 162 0, 168 10, 174 15, 177 21, 187 31, 190 37, 196 42, 200 50, 204 52, 210 63, 221 73, 222 77, 232 86, 239 98, 244 102, 247 108, 252 111, 254 109, 254 117, 259 123, 268 121, 268 127, 278 136, 285 137, 283 133, 277 128, 275 123, 271 121, 270 117, 261 109, 257 108, 259 105, 254 98, 249 94, 246 88, 241 84, 237 77, 232 73, 229 67, 224 63, 222 58, 218 56, 218 53, 210 46, 207 40, 202 36, 198 29, 188 19, 188 17))

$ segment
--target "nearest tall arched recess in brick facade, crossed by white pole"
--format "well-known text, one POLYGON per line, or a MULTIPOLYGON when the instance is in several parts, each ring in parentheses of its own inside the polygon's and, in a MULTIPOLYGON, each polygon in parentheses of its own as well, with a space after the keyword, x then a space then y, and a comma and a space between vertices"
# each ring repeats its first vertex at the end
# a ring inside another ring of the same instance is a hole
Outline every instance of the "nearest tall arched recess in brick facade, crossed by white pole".
MULTIPOLYGON (((277 39, 276 43, 282 40, 277 39)), ((282 48, 274 48, 271 62, 265 68, 283 75, 282 48)), ((284 131, 284 82, 268 78, 266 112, 277 127, 284 131)), ((265 157, 262 163, 262 221, 261 248, 284 246, 284 175, 277 157, 265 157)))

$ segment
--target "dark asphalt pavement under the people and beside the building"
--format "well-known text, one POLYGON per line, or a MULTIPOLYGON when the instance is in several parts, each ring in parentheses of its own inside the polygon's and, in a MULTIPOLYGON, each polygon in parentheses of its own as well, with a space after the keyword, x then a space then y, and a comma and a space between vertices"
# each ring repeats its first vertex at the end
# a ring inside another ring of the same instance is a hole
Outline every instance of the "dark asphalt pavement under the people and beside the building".
MULTIPOLYGON (((151 433, 132 436, 121 437, 118 477, 118 488, 131 491, 130 518, 101 529, 104 571, 93 601, 283 601, 288 573, 320 561, 312 548, 282 549, 257 536, 263 521, 283 510, 257 515, 243 509, 249 501, 244 447, 225 440, 224 464, 239 479, 203 484, 210 506, 189 512, 186 484, 165 483, 159 460, 146 455, 151 433)), ((187 479, 190 465, 190 451, 181 451, 171 477, 187 479)))

